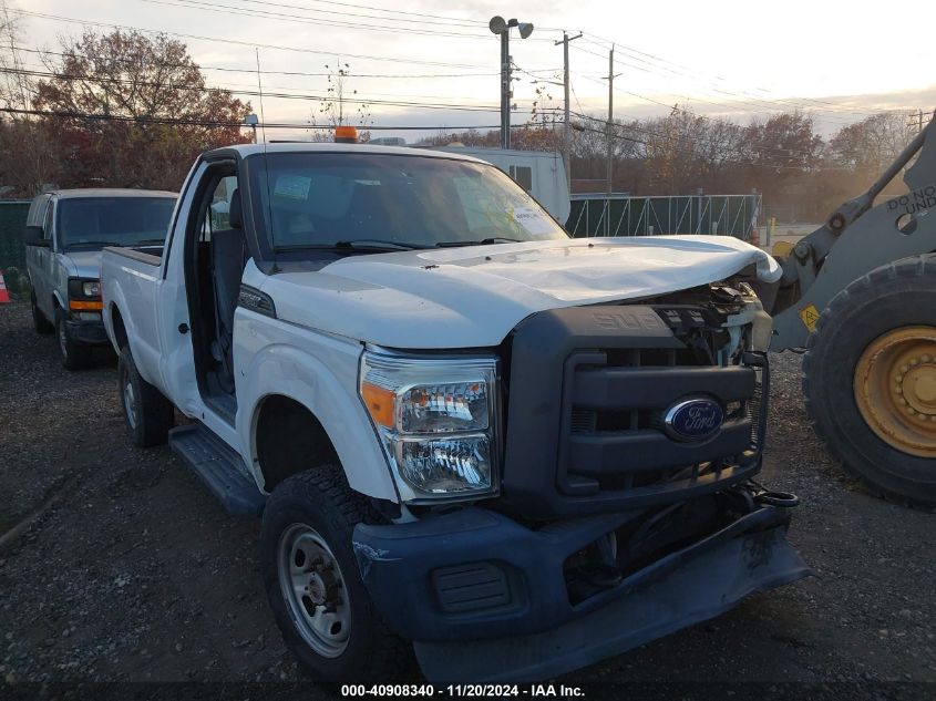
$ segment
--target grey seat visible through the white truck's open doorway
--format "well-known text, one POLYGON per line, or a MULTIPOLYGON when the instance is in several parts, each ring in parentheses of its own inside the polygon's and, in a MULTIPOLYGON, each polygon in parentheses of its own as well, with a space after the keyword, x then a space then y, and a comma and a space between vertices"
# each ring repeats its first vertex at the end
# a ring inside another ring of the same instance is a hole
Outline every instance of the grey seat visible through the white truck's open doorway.
POLYGON ((229 229, 212 231, 212 284, 215 290, 216 339, 212 354, 224 368, 228 391, 234 390, 234 310, 240 293, 240 278, 246 262, 246 246, 241 230, 240 190, 230 197, 229 229))

